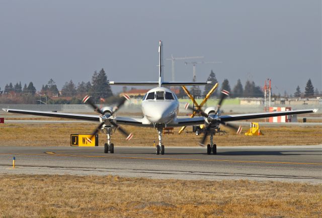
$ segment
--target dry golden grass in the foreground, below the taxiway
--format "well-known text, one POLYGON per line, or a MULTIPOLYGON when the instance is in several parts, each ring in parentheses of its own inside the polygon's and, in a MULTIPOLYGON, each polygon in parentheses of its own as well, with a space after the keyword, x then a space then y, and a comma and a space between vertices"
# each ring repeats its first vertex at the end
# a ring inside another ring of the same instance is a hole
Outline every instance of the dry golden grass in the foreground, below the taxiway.
POLYGON ((321 217, 322 185, 2 175, 0 217, 321 217))

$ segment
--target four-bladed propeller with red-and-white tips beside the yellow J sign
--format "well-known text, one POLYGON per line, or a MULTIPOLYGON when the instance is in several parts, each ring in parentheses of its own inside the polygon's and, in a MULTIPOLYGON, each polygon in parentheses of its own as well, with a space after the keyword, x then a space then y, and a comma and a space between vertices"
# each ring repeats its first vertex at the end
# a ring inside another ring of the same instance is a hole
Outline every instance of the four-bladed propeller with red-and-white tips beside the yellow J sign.
POLYGON ((111 124, 113 125, 116 129, 118 129, 125 137, 126 140, 130 140, 133 137, 133 133, 128 133, 125 129, 123 129, 120 125, 118 125, 113 119, 113 115, 122 107, 125 103, 126 100, 130 100, 130 97, 128 95, 124 95, 122 100, 113 108, 113 111, 111 113, 104 113, 96 104, 91 99, 91 96, 85 96, 83 99, 83 102, 85 104, 89 104, 93 107, 94 111, 98 112, 100 114, 100 117, 102 118, 102 122, 98 127, 93 131, 92 136, 90 139, 92 139, 98 131, 103 127, 104 124, 111 124))

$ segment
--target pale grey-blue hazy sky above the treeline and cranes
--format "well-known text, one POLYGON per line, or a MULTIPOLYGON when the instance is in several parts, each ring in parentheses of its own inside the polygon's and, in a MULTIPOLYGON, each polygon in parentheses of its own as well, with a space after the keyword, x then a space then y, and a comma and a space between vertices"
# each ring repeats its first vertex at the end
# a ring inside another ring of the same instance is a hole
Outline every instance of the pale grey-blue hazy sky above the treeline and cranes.
MULTIPOLYGON (((0 87, 32 81, 39 91, 52 78, 61 89, 101 68, 110 81, 157 81, 162 40, 165 58, 222 61, 197 65, 197 81, 213 69, 231 87, 271 78, 274 93, 293 94, 310 78, 322 91, 321 10, 320 0, 0 0, 0 87)), ((176 81, 192 81, 192 65, 177 61, 176 81)))

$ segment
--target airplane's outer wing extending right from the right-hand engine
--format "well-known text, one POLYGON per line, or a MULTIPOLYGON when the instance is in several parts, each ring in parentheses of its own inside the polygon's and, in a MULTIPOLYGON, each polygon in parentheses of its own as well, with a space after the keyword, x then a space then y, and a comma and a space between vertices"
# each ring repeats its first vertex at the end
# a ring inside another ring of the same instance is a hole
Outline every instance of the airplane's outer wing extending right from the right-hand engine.
POLYGON ((256 118, 266 118, 266 117, 277 117, 292 114, 305 114, 314 113, 317 109, 307 109, 307 110, 291 110, 291 111, 276 111, 276 112, 264 112, 264 113, 251 113, 251 114, 234 114, 234 115, 222 115, 220 116, 221 121, 237 121, 237 120, 248 120, 256 118))

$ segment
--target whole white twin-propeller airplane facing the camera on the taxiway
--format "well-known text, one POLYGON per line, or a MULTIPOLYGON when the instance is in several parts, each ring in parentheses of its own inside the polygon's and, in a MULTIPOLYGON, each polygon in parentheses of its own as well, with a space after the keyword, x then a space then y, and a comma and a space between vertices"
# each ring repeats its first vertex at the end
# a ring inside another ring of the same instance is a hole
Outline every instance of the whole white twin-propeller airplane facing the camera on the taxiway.
POLYGON ((179 101, 174 92, 166 87, 173 86, 196 86, 196 85, 210 85, 211 82, 165 82, 164 81, 164 59, 163 59, 163 42, 159 41, 158 46, 159 53, 159 64, 158 64, 158 81, 157 82, 109 82, 110 85, 121 85, 121 86, 156 86, 149 90, 142 99, 142 118, 135 117, 118 117, 116 112, 125 103, 126 100, 130 100, 129 96, 124 95, 122 100, 114 108, 103 107, 100 109, 94 104, 90 96, 85 96, 83 102, 93 107, 94 111, 98 112, 99 115, 88 115, 88 114, 73 114, 73 113, 59 113, 59 112, 43 112, 43 111, 32 111, 32 110, 16 110, 16 109, 3 109, 9 113, 18 114, 30 114, 37 116, 48 116, 48 117, 60 117, 69 119, 79 119, 87 121, 96 121, 100 124, 94 130, 92 135, 98 133, 99 130, 104 131, 107 135, 107 143, 104 144, 104 153, 114 153, 114 144, 111 143, 112 130, 115 128, 120 131, 126 140, 130 140, 133 137, 133 133, 128 133, 120 125, 133 125, 138 127, 153 127, 157 130, 158 144, 156 145, 156 154, 165 154, 165 146, 162 142, 163 129, 165 127, 181 127, 190 125, 205 125, 205 133, 202 140, 199 142, 200 146, 205 147, 205 141, 209 135, 210 143, 207 144, 207 154, 217 154, 217 146, 213 141, 213 136, 220 130, 220 124, 232 128, 236 133, 240 133, 241 127, 236 127, 229 124, 229 121, 237 120, 249 120, 255 118, 266 118, 274 116, 292 115, 292 114, 303 114, 303 113, 314 113, 317 109, 305 109, 305 110, 291 110, 283 112, 264 112, 264 113, 249 113, 249 114, 233 114, 233 115, 221 115, 220 107, 223 100, 229 96, 229 92, 222 90, 221 97, 217 107, 207 107, 204 111, 201 109, 194 109, 185 105, 186 109, 192 110, 199 114, 199 117, 187 117, 179 118, 179 101))

